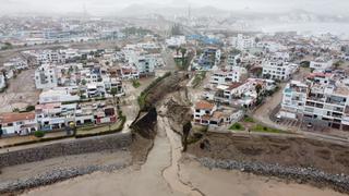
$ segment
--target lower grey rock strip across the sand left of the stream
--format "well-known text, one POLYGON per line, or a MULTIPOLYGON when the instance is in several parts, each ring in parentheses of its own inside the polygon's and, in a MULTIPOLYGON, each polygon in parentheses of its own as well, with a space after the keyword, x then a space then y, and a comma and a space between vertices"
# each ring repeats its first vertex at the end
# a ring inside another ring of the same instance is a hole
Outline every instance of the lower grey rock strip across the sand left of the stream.
POLYGON ((21 179, 11 182, 0 182, 0 194, 49 185, 79 175, 91 174, 96 171, 112 172, 113 170, 123 169, 125 167, 127 164, 119 163, 109 166, 88 166, 69 169, 56 169, 28 179, 21 179))

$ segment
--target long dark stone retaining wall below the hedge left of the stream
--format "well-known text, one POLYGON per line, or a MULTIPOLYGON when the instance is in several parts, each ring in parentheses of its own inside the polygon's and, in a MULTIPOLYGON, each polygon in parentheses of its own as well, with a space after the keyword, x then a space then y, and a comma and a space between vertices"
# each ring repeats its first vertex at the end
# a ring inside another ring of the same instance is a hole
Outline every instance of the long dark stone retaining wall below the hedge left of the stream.
POLYGON ((0 168, 35 162, 55 157, 120 149, 128 147, 131 144, 131 133, 118 133, 112 135, 49 144, 45 146, 0 154, 0 168))

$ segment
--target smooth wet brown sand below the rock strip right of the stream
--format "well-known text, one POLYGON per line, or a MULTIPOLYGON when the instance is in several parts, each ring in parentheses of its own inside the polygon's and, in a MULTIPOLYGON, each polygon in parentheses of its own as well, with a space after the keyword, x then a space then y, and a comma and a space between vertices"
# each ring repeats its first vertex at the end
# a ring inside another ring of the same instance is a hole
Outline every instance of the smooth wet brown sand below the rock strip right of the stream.
POLYGON ((328 188, 286 183, 276 177, 258 176, 240 171, 209 170, 198 162, 184 161, 181 179, 205 195, 212 196, 345 196, 328 188))

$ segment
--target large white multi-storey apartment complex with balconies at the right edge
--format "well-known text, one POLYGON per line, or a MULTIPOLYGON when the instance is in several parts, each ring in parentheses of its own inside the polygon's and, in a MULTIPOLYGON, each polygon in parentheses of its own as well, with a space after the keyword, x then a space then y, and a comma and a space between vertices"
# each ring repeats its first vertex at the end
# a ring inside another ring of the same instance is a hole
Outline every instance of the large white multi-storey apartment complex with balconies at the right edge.
POLYGON ((349 131, 349 88, 340 79, 317 74, 284 89, 281 118, 349 131))

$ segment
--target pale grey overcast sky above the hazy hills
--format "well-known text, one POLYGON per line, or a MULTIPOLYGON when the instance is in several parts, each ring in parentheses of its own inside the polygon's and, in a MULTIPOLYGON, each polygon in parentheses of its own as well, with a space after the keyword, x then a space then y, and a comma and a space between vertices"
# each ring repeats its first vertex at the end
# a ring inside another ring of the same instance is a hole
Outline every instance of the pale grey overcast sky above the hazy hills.
POLYGON ((24 12, 83 12, 101 15, 121 10, 131 4, 165 4, 204 7, 213 5, 225 10, 252 10, 262 12, 302 9, 317 13, 346 14, 349 0, 0 0, 0 13, 24 12))

